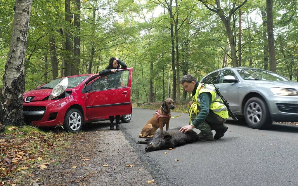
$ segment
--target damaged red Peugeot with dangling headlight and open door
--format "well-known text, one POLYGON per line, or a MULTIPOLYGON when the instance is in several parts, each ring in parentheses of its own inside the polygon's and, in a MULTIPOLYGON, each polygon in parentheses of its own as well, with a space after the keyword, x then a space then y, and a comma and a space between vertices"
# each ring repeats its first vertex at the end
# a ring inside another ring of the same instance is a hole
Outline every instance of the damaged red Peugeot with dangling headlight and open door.
POLYGON ((122 123, 131 120, 132 68, 99 76, 82 74, 55 79, 24 93, 25 122, 34 126, 63 125, 78 132, 83 124, 109 120, 122 115, 122 123))

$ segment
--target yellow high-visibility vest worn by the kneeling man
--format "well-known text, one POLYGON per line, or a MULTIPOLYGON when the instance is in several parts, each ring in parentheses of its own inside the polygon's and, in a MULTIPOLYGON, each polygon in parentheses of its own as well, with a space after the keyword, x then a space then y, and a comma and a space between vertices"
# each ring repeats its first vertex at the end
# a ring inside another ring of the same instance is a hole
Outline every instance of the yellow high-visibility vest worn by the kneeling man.
POLYGON ((190 114, 198 114, 198 112, 200 112, 197 109, 197 107, 200 107, 201 105, 199 95, 204 92, 209 92, 212 95, 210 110, 224 119, 229 118, 228 109, 226 108, 226 105, 223 104, 221 98, 216 94, 215 88, 208 84, 202 85, 201 83, 199 83, 195 95, 192 95, 194 102, 190 106, 190 114))

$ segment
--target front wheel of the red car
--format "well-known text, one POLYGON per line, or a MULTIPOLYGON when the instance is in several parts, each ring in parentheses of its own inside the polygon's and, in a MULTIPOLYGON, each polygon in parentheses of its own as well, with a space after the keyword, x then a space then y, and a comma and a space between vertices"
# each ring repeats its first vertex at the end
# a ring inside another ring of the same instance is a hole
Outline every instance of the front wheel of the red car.
POLYGON ((67 110, 63 124, 66 131, 77 133, 82 129, 83 124, 84 117, 80 110, 74 108, 67 110))

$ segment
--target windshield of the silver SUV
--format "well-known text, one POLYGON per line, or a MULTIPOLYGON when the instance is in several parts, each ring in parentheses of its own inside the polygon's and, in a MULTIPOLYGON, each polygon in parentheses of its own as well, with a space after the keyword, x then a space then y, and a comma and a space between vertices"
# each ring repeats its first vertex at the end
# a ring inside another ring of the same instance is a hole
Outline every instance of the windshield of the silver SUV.
POLYGON ((263 69, 235 69, 244 80, 265 80, 265 81, 289 81, 283 76, 263 69))

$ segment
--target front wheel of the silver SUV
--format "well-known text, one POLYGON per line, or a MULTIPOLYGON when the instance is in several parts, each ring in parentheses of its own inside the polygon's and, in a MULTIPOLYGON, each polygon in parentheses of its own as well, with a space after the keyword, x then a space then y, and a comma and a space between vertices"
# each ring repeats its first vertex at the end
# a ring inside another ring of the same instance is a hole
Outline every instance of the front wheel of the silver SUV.
POLYGON ((246 102, 243 115, 246 123, 253 129, 267 129, 272 124, 269 109, 260 97, 252 97, 246 102))

